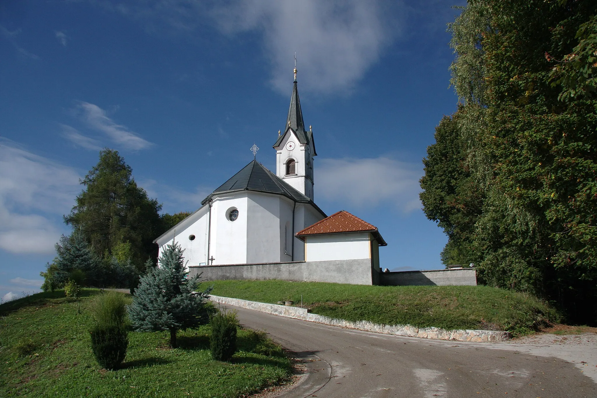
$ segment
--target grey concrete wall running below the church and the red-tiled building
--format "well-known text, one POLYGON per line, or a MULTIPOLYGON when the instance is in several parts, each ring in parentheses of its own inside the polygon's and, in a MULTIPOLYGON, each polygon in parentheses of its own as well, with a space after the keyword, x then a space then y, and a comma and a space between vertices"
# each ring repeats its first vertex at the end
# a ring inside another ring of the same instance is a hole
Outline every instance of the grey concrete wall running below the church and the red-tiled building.
POLYGON ((300 261, 294 263, 232 264, 192 266, 189 276, 201 274, 202 280, 296 280, 310 282, 373 285, 371 260, 300 261))

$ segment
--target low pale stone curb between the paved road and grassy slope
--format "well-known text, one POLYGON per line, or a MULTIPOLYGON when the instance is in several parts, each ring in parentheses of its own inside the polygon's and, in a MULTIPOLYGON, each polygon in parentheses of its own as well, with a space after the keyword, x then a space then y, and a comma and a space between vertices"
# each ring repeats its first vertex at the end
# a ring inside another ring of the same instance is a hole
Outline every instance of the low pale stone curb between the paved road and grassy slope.
POLYGON ((307 308, 287 307, 279 304, 259 303, 257 301, 241 300, 240 298, 220 297, 210 295, 209 299, 220 304, 229 304, 230 306, 248 308, 284 316, 308 320, 309 322, 323 323, 324 325, 340 326, 341 328, 357 329, 366 332, 375 332, 381 334, 390 334, 396 336, 431 338, 435 340, 456 340, 473 341, 477 343, 488 341, 506 341, 512 338, 510 332, 482 331, 472 329, 445 330, 439 328, 417 328, 411 325, 380 325, 379 323, 361 320, 359 322, 350 322, 343 319, 333 319, 328 316, 311 314, 307 308))

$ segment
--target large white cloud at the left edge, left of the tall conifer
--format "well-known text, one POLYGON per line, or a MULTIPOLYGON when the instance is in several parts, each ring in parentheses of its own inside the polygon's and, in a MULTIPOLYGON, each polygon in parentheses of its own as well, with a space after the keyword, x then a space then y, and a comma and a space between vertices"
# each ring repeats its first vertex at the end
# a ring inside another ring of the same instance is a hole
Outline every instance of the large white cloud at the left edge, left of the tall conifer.
POLYGON ((79 175, 2 140, 0 146, 0 249, 49 254, 60 238, 56 219, 69 212, 79 175))

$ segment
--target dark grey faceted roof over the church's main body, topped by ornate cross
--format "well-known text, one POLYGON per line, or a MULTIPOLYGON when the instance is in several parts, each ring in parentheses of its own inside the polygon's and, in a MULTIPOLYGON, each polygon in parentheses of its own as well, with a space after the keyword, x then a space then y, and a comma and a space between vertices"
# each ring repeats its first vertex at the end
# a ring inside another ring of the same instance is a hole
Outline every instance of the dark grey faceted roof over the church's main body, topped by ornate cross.
POLYGON ((265 193, 273 193, 276 195, 286 196, 288 199, 299 203, 310 203, 321 214, 325 213, 309 199, 307 196, 298 192, 291 187, 286 181, 279 178, 273 172, 266 169, 261 163, 253 161, 244 166, 241 171, 230 177, 228 181, 221 184, 210 196, 205 198, 201 204, 205 205, 208 200, 217 193, 237 192, 237 191, 257 191, 265 193))

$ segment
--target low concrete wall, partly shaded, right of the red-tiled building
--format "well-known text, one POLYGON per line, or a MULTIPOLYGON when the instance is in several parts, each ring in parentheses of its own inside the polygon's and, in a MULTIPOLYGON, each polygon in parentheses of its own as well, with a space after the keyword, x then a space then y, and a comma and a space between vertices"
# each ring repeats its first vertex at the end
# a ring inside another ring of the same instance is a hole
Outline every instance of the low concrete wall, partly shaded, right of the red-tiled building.
POLYGON ((380 285, 476 286, 475 269, 381 272, 380 285))

